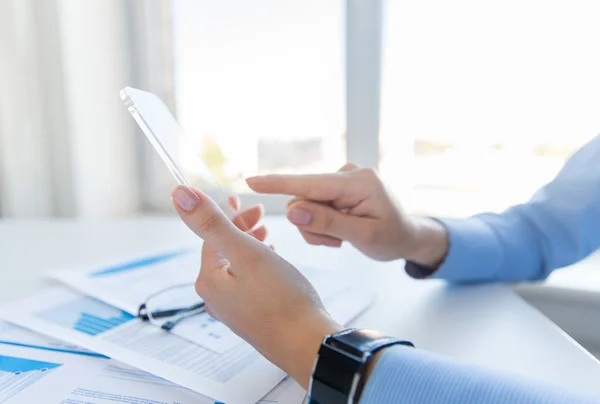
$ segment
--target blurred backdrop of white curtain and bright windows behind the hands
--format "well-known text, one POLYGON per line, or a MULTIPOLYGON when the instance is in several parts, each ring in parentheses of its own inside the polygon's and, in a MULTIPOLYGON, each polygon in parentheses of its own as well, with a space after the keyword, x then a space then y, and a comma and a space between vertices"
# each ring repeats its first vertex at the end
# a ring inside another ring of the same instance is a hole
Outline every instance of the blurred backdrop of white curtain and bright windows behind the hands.
POLYGON ((172 212, 119 99, 159 95, 219 180, 377 167, 411 212, 527 200, 600 133, 593 0, 0 0, 0 216, 172 212))

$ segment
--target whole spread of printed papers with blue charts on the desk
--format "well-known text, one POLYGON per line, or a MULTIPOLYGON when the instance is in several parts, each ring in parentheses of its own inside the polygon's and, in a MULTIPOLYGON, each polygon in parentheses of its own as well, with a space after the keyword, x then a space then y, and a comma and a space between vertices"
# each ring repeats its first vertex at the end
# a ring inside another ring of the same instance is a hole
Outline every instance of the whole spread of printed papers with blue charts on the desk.
MULTIPOLYGON (((207 314, 171 332, 136 317, 148 296, 193 281, 199 266, 196 251, 181 250, 57 271, 68 287, 0 308, 3 319, 56 339, 0 328, 0 403, 301 403, 300 386, 207 314), (68 382, 50 399, 57 378, 68 382)), ((349 280, 303 272, 340 323, 373 300, 349 280)))

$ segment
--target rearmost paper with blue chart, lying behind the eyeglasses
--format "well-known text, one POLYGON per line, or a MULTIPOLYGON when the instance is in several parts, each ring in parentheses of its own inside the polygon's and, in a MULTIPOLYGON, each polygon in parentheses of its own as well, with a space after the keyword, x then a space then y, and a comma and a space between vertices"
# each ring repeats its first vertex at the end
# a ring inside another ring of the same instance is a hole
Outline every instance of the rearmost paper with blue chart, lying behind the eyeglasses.
MULTIPOLYGON (((112 265, 52 271, 50 276, 88 296, 135 315, 140 304, 150 295, 170 286, 193 282, 199 268, 198 249, 183 248, 135 257, 112 265)), ((315 285, 326 305, 330 297, 353 286, 351 279, 340 279, 339 276, 334 278, 315 269, 302 270, 315 285)), ((90 325, 89 322, 93 320, 82 321, 90 325)), ((218 353, 225 353, 243 343, 229 328, 214 321, 206 313, 180 322, 171 332, 218 353)))

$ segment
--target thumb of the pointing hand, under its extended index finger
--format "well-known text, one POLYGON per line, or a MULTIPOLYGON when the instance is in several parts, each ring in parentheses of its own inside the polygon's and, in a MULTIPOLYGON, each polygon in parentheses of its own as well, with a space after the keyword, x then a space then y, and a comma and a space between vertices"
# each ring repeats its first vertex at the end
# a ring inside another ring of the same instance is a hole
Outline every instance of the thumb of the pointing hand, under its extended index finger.
POLYGON ((289 206, 287 217, 301 231, 359 243, 368 230, 369 219, 341 212, 330 206, 305 200, 289 206))

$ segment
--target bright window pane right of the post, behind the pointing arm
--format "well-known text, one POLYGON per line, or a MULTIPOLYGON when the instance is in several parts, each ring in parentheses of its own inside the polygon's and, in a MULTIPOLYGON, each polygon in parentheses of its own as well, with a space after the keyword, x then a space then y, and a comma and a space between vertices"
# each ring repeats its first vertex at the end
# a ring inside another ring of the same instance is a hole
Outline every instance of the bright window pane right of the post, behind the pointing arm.
POLYGON ((594 1, 389 0, 383 178, 413 212, 526 201, 600 129, 594 1))

